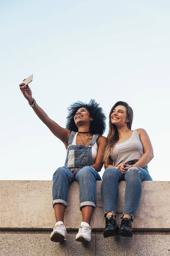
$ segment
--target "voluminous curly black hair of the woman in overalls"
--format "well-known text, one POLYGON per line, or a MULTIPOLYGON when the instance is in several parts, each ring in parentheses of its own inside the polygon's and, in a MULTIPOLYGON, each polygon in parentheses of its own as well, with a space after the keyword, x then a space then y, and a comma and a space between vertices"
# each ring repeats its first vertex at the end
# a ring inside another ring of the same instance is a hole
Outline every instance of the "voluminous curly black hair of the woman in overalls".
POLYGON ((90 124, 90 131, 92 134, 100 134, 102 135, 105 132, 106 124, 106 116, 99 104, 95 101, 95 99, 91 99, 90 102, 74 102, 68 107, 68 116, 66 122, 66 129, 69 131, 78 131, 77 126, 74 122, 74 116, 79 108, 87 108, 90 116, 93 118, 90 124))

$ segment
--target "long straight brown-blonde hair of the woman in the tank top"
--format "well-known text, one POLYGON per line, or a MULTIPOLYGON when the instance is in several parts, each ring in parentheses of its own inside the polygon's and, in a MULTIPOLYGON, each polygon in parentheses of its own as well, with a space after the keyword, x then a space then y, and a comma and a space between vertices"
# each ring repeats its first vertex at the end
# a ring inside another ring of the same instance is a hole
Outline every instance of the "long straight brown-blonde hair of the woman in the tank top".
POLYGON ((109 114, 108 145, 105 149, 105 154, 104 154, 104 159, 103 159, 105 166, 110 164, 111 153, 113 151, 113 148, 114 148, 116 142, 119 140, 119 134, 118 134, 116 125, 113 125, 111 123, 111 114, 113 113, 113 110, 118 105, 122 105, 126 108, 126 115, 127 115, 127 118, 129 119, 129 122, 127 122, 127 128, 131 130, 131 127, 132 127, 132 122, 133 122, 132 108, 130 108, 130 106, 126 102, 123 102, 123 101, 116 102, 116 104, 113 105, 113 107, 111 108, 111 112, 109 114))

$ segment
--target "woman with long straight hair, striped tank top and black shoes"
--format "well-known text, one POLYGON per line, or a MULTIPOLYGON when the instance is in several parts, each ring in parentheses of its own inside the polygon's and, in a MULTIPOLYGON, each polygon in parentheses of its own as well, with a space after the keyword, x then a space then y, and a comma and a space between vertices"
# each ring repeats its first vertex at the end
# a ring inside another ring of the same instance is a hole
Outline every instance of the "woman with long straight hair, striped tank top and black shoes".
POLYGON ((126 102, 116 102, 109 115, 108 145, 105 150, 105 172, 102 180, 102 201, 106 226, 104 237, 129 236, 141 192, 142 180, 152 180, 147 164, 153 148, 144 129, 131 130, 133 110, 126 102), (125 206, 120 227, 116 223, 118 183, 126 181, 125 206))

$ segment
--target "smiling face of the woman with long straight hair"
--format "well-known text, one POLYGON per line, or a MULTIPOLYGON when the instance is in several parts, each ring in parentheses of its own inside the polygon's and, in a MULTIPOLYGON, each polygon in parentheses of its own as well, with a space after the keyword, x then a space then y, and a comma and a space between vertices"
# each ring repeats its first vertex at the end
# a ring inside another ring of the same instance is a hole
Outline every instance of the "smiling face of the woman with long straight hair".
POLYGON ((116 106, 111 113, 111 123, 116 126, 123 126, 127 125, 129 122, 127 118, 127 111, 126 108, 122 105, 116 106))

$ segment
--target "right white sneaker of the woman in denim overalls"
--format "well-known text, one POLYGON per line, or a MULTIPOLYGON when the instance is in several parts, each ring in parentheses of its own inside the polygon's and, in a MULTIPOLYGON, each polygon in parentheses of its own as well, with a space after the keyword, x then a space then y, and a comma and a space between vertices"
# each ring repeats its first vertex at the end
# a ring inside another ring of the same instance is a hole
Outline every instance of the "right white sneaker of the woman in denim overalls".
POLYGON ((90 242, 91 241, 91 226, 87 222, 81 222, 79 226, 79 232, 76 235, 76 241, 78 242, 90 242))

